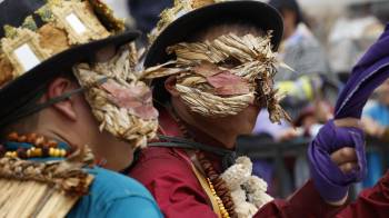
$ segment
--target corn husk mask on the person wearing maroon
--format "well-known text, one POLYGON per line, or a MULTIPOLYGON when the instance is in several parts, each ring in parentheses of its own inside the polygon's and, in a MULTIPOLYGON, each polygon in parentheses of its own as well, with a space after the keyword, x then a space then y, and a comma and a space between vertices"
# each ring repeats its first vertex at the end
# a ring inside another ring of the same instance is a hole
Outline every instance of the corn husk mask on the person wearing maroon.
POLYGON ((146 69, 147 79, 177 76, 176 88, 186 105, 206 117, 227 117, 249 105, 266 106, 272 122, 290 120, 273 89, 278 61, 265 37, 233 33, 212 41, 178 43, 167 49, 177 59, 146 69), (233 62, 232 67, 227 67, 233 62))

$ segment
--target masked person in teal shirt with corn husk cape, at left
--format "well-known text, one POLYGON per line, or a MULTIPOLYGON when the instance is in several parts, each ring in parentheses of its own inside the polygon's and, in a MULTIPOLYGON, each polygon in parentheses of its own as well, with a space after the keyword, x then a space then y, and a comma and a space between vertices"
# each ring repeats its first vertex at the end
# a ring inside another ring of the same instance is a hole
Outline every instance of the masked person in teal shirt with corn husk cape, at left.
POLYGON ((161 217, 122 170, 157 130, 127 44, 100 1, 0 3, 0 216, 161 217), (119 48, 121 47, 121 48, 119 48))

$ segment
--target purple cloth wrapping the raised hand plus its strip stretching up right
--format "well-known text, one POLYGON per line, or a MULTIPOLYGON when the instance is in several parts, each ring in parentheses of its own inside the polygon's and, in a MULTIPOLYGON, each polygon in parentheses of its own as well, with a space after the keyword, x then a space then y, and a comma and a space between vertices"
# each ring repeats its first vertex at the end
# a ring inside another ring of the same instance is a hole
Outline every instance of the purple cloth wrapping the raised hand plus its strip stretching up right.
MULTIPOLYGON (((360 118, 371 92, 389 78, 389 26, 352 69, 351 77, 339 95, 335 118, 360 118)), ((328 201, 341 200, 349 185, 366 175, 365 138, 357 128, 336 127, 329 121, 322 127, 308 149, 311 175, 321 197, 328 201), (346 146, 357 151, 359 170, 345 175, 332 162, 330 155, 346 146)))

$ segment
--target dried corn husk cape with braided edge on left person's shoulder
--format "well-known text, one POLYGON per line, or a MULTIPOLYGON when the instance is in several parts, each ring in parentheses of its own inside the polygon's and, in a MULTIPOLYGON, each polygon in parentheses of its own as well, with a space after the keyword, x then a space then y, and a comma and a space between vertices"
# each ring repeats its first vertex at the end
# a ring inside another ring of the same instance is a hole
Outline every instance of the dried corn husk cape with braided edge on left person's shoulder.
POLYGON ((89 149, 64 161, 0 159, 0 217, 64 217, 93 180, 89 149))

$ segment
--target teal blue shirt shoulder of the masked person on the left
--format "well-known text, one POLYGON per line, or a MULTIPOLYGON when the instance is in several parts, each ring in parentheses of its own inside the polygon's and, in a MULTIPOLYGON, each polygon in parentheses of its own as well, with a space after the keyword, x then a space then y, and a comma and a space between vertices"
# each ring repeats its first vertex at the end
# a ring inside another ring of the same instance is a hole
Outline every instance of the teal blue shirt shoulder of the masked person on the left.
POLYGON ((82 197, 68 218, 73 217, 163 217, 150 192, 138 181, 120 174, 94 167, 90 194, 82 197))

